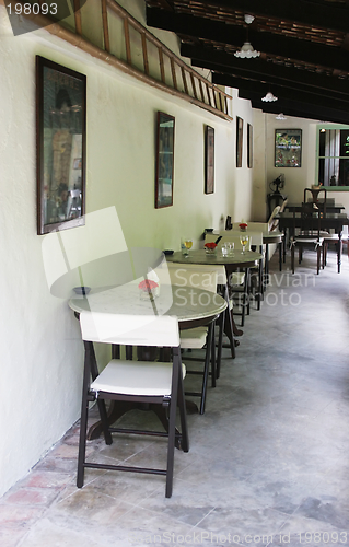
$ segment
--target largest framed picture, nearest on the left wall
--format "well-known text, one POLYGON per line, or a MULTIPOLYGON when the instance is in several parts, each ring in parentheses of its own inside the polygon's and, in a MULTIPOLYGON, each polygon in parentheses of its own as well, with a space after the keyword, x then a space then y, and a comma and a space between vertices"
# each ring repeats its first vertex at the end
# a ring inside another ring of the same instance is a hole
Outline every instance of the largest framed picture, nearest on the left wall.
POLYGON ((86 77, 36 56, 37 233, 84 224, 86 77))

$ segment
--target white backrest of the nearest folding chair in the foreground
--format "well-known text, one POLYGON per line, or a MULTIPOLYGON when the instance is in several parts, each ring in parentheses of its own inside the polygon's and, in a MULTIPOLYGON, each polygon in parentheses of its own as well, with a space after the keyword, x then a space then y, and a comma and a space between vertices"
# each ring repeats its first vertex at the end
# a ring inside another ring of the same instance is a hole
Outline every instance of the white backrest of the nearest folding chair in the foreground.
POLYGON ((177 317, 81 312, 82 339, 130 346, 179 346, 177 317))

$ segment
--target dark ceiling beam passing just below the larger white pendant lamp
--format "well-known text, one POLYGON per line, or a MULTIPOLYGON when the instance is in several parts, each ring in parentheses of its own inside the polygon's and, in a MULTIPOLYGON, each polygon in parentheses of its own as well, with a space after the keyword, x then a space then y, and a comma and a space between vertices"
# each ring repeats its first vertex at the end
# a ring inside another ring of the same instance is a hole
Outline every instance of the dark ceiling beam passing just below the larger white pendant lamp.
POLYGON ((310 86, 314 90, 321 89, 334 94, 349 94, 349 80, 339 79, 337 75, 329 77, 293 67, 286 67, 264 59, 236 59, 231 54, 218 51, 214 48, 190 46, 182 44, 181 55, 191 58, 195 67, 216 70, 217 72, 229 72, 241 78, 264 80, 276 84, 294 84, 296 86, 310 86))

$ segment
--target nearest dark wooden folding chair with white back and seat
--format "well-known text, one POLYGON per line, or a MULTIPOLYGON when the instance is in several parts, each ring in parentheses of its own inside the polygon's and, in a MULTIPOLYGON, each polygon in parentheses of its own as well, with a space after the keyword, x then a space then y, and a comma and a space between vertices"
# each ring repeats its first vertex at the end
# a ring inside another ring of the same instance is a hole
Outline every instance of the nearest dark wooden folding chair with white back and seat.
POLYGON ((116 315, 82 312, 80 326, 85 348, 81 424, 77 486, 84 481, 84 469, 107 469, 164 475, 165 496, 172 496, 175 443, 184 452, 189 450, 186 410, 183 392, 185 366, 181 361, 178 321, 171 316, 116 315), (112 359, 100 373, 93 342, 117 344, 172 349, 172 362, 124 361, 112 359), (91 383, 91 375, 93 382, 91 383), (106 444, 113 443, 112 433, 150 434, 167 437, 167 462, 164 469, 92 463, 86 461, 86 427, 89 403, 97 400, 106 444), (162 405, 167 409, 165 432, 110 427, 105 399, 120 404, 162 405), (179 407, 182 433, 176 430, 176 408, 179 407))

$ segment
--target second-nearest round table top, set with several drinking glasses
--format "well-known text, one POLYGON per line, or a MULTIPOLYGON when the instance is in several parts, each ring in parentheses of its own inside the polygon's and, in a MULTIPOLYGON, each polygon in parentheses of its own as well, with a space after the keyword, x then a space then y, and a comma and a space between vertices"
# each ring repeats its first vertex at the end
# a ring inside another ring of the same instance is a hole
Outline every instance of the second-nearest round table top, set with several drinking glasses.
POLYGON ((216 264, 234 268, 253 268, 253 266, 257 265, 260 258, 263 258, 263 255, 260 253, 246 251, 245 254, 242 254, 240 249, 234 251, 233 255, 230 256, 223 256, 220 249, 218 249, 213 254, 206 253, 206 251, 203 249, 189 251, 188 256, 184 256, 181 251, 177 251, 173 255, 166 256, 166 260, 170 263, 210 265, 216 264))

